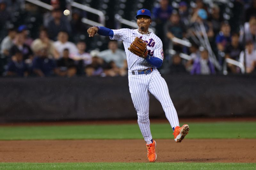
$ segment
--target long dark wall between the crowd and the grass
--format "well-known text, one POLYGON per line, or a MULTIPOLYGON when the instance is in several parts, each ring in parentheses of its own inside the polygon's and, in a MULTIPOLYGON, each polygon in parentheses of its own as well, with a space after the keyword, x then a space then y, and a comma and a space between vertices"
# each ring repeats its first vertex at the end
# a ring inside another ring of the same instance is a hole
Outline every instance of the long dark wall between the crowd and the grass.
MULTIPOLYGON (((179 117, 255 116, 256 76, 164 76, 179 117)), ((127 77, 1 78, 0 122, 136 118, 127 77)), ((164 117, 150 96, 150 117, 164 117)))

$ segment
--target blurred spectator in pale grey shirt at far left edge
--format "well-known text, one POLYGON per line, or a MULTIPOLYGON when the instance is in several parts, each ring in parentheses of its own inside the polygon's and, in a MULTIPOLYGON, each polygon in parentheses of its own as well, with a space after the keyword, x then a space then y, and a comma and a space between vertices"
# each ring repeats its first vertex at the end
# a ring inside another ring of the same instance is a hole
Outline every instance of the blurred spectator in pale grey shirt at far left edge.
POLYGON ((8 30, 8 35, 1 42, 1 55, 5 57, 10 55, 10 49, 14 45, 13 40, 16 36, 16 30, 11 28, 8 30))

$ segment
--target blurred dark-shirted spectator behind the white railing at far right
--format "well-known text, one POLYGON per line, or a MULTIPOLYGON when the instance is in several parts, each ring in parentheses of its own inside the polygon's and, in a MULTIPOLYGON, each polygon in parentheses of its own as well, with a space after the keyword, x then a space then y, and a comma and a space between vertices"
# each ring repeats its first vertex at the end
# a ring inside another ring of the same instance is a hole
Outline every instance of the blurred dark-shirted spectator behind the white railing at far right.
MULTIPOLYGON (((225 58, 239 61, 241 51, 243 51, 243 46, 239 44, 239 34, 235 32, 231 36, 231 44, 225 48, 225 58)), ((232 73, 237 73, 235 65, 229 63, 227 65, 232 73)))

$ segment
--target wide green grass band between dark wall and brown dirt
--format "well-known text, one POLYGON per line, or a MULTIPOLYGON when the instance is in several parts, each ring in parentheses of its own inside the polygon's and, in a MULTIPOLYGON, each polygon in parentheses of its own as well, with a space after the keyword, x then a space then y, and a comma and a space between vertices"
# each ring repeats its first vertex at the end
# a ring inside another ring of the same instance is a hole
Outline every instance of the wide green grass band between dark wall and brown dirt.
MULTIPOLYGON (((186 138, 256 138, 256 122, 188 123, 186 138)), ((154 138, 172 138, 169 124, 151 124, 154 138)), ((142 139, 137 124, 0 126, 0 140, 142 139)))

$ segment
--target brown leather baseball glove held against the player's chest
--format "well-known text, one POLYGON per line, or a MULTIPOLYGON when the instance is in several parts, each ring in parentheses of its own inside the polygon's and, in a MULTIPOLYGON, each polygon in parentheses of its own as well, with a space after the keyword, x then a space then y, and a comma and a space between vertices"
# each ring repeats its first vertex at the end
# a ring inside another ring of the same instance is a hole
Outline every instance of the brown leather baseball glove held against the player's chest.
POLYGON ((134 39, 134 41, 132 42, 128 50, 144 59, 148 55, 147 43, 143 39, 140 39, 139 37, 136 37, 134 39))

